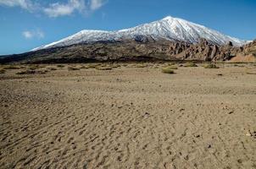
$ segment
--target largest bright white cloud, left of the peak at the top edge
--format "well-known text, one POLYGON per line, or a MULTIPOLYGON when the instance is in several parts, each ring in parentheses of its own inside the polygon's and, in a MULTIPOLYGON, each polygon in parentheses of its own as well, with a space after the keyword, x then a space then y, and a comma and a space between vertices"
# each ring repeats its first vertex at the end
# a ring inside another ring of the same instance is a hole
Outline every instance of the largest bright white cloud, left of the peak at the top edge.
POLYGON ((86 5, 84 0, 70 0, 68 3, 52 3, 48 8, 44 8, 43 11, 49 17, 55 18, 58 16, 70 15, 75 11, 82 12, 85 10, 86 5))

